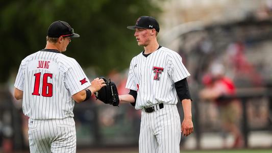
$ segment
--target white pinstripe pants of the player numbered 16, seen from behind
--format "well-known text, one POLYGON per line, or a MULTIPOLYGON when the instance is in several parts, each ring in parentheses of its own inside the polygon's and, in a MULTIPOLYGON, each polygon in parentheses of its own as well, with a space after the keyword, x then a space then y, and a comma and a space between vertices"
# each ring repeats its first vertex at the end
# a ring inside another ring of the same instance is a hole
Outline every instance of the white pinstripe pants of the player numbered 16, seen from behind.
POLYGON ((29 119, 30 152, 76 152, 76 127, 72 117, 29 119))

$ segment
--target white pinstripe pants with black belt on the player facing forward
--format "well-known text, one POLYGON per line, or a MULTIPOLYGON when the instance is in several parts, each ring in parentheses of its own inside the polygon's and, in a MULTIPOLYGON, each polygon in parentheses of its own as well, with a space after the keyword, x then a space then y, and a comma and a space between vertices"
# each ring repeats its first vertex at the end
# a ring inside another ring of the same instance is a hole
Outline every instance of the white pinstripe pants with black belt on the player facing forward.
POLYGON ((142 110, 139 137, 139 152, 180 153, 181 121, 176 105, 164 105, 155 111, 146 113, 142 110))

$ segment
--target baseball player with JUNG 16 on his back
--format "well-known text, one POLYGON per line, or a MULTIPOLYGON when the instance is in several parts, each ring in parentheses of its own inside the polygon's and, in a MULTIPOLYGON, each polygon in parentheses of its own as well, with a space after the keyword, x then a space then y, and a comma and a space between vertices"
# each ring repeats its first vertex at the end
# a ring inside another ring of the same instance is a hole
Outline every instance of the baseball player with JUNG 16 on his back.
POLYGON ((61 54, 72 37, 79 35, 67 22, 55 21, 45 48, 21 61, 14 97, 29 117, 30 152, 76 152, 74 100, 81 103, 105 86, 103 79, 90 83, 79 63, 61 54))

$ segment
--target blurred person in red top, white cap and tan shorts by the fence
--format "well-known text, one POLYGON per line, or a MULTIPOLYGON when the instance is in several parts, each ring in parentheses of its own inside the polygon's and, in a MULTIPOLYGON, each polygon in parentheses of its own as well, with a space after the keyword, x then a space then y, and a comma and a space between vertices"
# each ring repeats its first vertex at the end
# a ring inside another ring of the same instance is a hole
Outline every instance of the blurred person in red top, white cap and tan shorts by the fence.
MULTIPOLYGON (((200 98, 212 101, 218 106, 222 129, 231 132, 235 139, 232 147, 242 147, 242 135, 237 125, 241 106, 237 99, 223 98, 235 94, 234 83, 224 73, 224 66, 218 63, 212 64, 210 74, 203 77, 205 88, 200 91, 200 98)), ((226 147, 226 137, 224 137, 224 146, 226 147)))

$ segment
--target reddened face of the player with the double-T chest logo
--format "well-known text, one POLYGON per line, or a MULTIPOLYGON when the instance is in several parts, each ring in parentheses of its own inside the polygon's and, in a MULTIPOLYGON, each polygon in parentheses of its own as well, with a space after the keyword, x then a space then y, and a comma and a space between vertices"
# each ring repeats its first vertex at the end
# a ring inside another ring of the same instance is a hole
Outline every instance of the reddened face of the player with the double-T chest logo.
POLYGON ((151 29, 135 29, 134 36, 138 42, 139 46, 147 46, 149 45, 151 39, 151 29))

